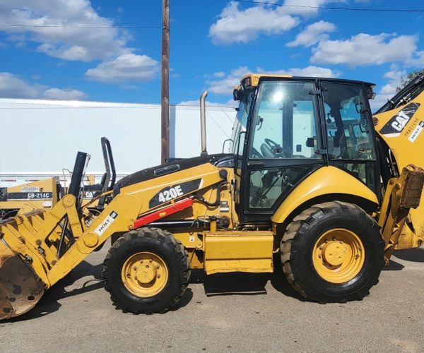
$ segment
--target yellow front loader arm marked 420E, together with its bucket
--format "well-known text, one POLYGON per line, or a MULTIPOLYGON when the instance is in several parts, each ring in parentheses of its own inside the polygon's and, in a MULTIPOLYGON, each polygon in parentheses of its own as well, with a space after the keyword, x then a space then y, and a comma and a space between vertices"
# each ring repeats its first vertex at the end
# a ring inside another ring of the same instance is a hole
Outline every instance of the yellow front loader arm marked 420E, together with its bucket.
POLYGON ((207 162, 126 186, 88 227, 78 212, 76 196, 71 194, 64 196, 49 213, 37 210, 1 222, 0 319, 18 316, 33 308, 45 290, 71 272, 112 234, 139 227, 146 215, 152 217, 153 214, 153 219, 158 220, 189 207, 198 201, 190 200, 179 208, 177 203, 196 191, 222 183, 225 177, 226 174, 207 162), (173 197, 171 189, 176 190, 177 197, 173 197), (165 191, 172 197, 169 201, 165 191), (65 251, 61 255, 57 250, 64 227, 72 237, 64 240, 65 251), (7 270, 12 262, 20 264, 18 273, 7 270), (21 292, 27 289, 18 301, 13 292, 16 287, 20 287, 21 292))

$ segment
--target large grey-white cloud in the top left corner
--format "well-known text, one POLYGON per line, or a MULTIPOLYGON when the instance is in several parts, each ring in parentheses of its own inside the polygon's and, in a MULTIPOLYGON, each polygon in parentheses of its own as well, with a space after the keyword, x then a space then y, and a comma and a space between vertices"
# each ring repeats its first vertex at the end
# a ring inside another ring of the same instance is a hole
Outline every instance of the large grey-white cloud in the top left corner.
POLYGON ((131 51, 126 47, 129 35, 124 30, 54 27, 112 26, 113 20, 99 16, 88 0, 1 1, 0 23, 47 26, 0 29, 10 35, 10 40, 40 43, 40 52, 60 59, 91 61, 131 51))

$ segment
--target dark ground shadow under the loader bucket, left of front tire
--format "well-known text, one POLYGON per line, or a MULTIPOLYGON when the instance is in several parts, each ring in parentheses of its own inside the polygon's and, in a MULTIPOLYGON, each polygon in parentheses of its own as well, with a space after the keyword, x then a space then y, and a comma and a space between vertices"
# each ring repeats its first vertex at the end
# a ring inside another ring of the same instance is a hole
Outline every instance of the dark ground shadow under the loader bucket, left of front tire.
POLYGON ((51 289, 49 289, 40 299, 40 301, 34 306, 33 309, 28 311, 21 316, 16 318, 11 318, 4 321, 5 323, 18 322, 18 321, 27 321, 33 320, 34 318, 40 318, 41 316, 46 316, 49 313, 59 310, 61 304, 59 303, 60 299, 66 297, 73 297, 79 294, 90 292, 95 289, 103 287, 103 282, 100 279, 100 271, 102 270, 102 263, 99 265, 90 265, 90 263, 83 261, 80 263, 69 275, 67 275, 63 280, 57 282, 51 289), (93 279, 87 280, 82 284, 82 286, 75 289, 66 289, 73 285, 77 280, 86 276, 93 276, 93 279))

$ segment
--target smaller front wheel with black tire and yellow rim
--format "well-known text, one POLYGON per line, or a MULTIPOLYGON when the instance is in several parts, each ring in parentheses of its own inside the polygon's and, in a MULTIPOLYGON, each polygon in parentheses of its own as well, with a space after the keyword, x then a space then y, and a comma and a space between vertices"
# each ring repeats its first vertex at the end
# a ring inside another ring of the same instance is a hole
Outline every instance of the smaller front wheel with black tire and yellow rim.
POLYGON ((131 313, 167 311, 181 299, 189 277, 184 246, 157 228, 137 229, 117 239, 102 270, 114 305, 131 313))

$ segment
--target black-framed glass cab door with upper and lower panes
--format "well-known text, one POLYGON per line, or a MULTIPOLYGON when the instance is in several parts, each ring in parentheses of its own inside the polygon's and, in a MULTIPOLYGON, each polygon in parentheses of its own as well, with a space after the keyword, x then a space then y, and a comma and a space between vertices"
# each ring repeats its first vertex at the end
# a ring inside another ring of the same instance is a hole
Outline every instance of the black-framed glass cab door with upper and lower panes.
POLYGON ((313 80, 262 81, 243 152, 239 215, 269 222, 278 205, 324 164, 313 80))

